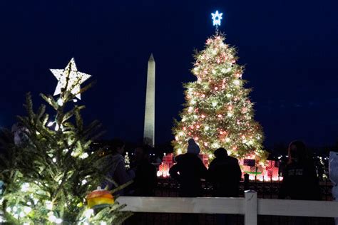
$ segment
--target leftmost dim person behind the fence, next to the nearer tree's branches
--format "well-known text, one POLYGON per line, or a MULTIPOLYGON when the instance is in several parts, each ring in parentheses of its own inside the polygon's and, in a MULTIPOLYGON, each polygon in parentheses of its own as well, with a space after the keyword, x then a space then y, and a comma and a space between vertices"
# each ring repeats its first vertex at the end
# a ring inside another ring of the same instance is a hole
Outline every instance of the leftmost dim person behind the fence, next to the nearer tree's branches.
MULTIPOLYGON (((108 152, 108 155, 103 157, 101 167, 106 167, 104 169, 108 170, 108 173, 106 174, 108 179, 105 179, 101 184, 102 188, 105 188, 106 186, 108 186, 108 189, 116 188, 113 182, 111 182, 111 179, 120 186, 126 184, 135 177, 133 170, 126 171, 125 158, 123 157, 124 146, 125 144, 122 140, 114 139, 111 142, 111 150, 108 152)), ((123 195, 124 192, 125 190, 122 189, 121 191, 116 192, 116 194, 123 195)))

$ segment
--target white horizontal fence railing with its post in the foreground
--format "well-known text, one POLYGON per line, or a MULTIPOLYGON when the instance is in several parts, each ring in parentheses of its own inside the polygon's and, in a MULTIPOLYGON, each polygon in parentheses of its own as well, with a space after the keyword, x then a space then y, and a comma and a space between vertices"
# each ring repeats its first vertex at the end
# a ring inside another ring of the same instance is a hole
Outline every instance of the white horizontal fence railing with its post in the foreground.
POLYGON ((245 198, 119 197, 124 211, 189 214, 244 214, 245 225, 257 225, 257 215, 338 217, 338 202, 245 198))

